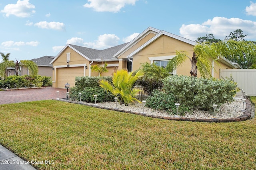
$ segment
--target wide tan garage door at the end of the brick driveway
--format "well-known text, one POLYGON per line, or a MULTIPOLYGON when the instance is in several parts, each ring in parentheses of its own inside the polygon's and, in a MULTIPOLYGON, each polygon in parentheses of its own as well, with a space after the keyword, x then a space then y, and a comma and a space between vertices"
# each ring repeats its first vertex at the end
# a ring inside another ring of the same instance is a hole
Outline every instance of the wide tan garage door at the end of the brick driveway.
POLYGON ((84 67, 58 68, 57 87, 64 88, 68 82, 70 87, 75 86, 75 77, 84 76, 84 67))

